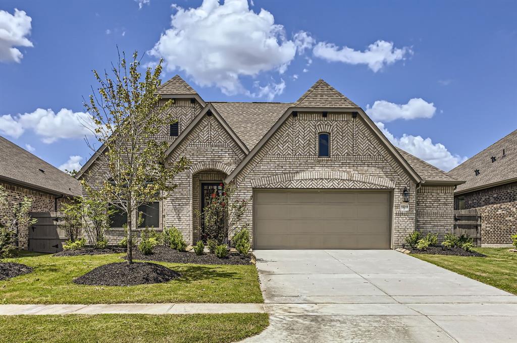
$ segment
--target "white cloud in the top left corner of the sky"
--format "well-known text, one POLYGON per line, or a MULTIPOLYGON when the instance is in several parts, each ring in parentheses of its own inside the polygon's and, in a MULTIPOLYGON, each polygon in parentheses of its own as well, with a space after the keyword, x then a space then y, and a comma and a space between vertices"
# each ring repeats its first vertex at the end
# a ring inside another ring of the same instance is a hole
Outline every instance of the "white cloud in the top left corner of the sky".
POLYGON ((14 9, 14 15, 0 10, 0 61, 20 63, 23 54, 14 46, 33 46, 25 36, 31 34, 32 18, 14 9))

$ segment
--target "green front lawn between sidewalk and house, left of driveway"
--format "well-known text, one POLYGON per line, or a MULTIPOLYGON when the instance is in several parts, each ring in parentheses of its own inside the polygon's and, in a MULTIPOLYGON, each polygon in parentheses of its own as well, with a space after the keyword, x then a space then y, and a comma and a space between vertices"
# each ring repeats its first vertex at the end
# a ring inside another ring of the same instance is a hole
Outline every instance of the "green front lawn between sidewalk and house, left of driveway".
MULTIPOLYGON (((124 254, 53 257, 22 255, 4 261, 27 264, 34 272, 0 281, 0 303, 262 303, 255 266, 157 262, 181 274, 164 284, 130 287, 84 286, 72 279, 124 254)), ((1 336, 0 336, 1 337, 1 336)))

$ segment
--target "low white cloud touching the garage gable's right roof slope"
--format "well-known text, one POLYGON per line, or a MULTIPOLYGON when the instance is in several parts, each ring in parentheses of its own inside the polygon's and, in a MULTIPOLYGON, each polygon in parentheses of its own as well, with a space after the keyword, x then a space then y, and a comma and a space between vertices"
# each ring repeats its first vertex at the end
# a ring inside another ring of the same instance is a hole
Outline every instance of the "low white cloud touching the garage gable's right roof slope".
POLYGON ((393 145, 442 170, 449 171, 467 160, 467 157, 453 155, 443 144, 433 144, 431 138, 424 139, 421 136, 407 134, 403 134, 402 137, 395 137, 386 129, 384 123, 376 122, 375 124, 393 145))

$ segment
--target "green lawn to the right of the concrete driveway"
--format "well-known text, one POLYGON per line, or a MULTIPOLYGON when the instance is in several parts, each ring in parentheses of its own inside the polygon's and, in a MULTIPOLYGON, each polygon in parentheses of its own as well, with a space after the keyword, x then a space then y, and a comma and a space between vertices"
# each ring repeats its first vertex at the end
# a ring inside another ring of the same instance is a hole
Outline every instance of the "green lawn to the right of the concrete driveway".
POLYGON ((508 249, 475 248, 477 252, 485 254, 486 257, 423 254, 412 254, 412 256, 484 284, 517 294, 517 253, 510 253, 508 249))

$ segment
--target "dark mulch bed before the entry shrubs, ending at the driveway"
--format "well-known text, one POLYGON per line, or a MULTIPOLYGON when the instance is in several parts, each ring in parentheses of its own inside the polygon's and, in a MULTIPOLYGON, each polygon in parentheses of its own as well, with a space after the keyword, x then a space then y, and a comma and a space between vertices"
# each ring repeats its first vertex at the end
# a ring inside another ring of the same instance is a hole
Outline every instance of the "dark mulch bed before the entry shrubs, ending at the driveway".
POLYGON ((251 264, 251 258, 242 255, 229 254, 227 258, 219 258, 214 254, 197 256, 192 252, 178 252, 168 246, 155 246, 151 255, 144 255, 138 249, 135 249, 133 250, 133 259, 194 264, 251 264))

